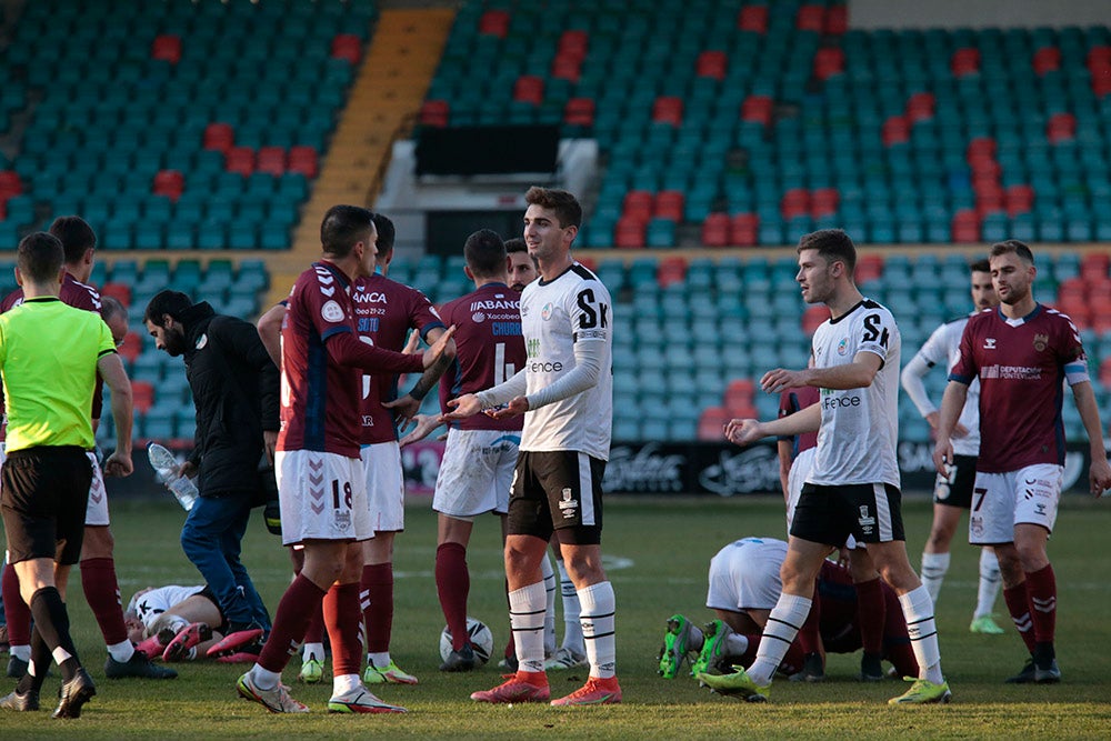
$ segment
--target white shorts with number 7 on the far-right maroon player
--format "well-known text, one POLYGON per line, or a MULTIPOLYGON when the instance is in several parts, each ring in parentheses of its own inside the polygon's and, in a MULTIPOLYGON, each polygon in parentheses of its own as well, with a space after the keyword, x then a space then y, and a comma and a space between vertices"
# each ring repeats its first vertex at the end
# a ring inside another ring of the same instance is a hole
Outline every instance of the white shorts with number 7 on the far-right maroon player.
POLYGON ((1040 524, 1053 532, 1064 468, 1038 463, 1005 473, 975 474, 969 542, 973 545, 1014 542, 1014 525, 1040 524))

